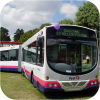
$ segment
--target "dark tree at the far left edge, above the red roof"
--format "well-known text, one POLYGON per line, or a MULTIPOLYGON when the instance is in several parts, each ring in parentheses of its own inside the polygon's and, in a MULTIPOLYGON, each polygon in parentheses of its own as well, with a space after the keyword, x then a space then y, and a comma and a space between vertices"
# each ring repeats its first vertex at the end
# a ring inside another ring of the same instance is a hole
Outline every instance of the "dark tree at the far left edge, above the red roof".
POLYGON ((11 41, 8 29, 1 27, 0 28, 0 41, 11 41))

